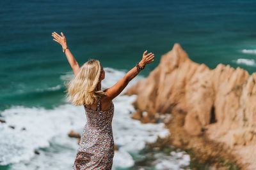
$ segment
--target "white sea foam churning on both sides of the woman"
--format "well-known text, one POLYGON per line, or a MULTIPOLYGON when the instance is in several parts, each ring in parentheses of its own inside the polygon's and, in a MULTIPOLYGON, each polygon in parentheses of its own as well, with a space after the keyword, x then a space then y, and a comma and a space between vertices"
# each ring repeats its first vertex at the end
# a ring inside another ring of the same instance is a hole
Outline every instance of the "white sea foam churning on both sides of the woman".
MULTIPOLYGON (((123 71, 110 68, 105 70, 108 81, 102 81, 102 87, 111 87, 125 74, 123 71)), ((140 78, 136 77, 128 86, 140 78)), ((164 124, 141 124, 138 120, 133 120, 131 112, 134 108, 131 103, 135 99, 135 95, 120 95, 113 100, 113 134, 115 144, 119 148, 115 151, 113 169, 133 166, 131 153, 138 153, 147 142, 155 141, 157 136, 164 137, 170 134, 168 129, 164 128, 164 124)), ((52 110, 13 106, 1 112, 1 115, 6 120, 6 124, 0 124, 1 165, 13 163, 11 169, 72 167, 78 144, 77 139, 68 138, 67 134, 70 130, 82 132, 86 123, 83 106, 64 104, 52 110), (10 128, 10 125, 15 126, 15 129, 10 128), (36 155, 34 150, 38 150, 40 155, 36 155)), ((180 160, 172 164, 180 166, 180 160)))

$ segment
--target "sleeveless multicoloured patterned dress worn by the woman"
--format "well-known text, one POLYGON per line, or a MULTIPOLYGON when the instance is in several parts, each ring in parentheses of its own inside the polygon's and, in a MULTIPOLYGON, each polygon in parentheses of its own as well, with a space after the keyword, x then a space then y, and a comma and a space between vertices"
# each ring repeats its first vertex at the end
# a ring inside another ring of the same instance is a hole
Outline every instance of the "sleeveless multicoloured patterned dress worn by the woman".
POLYGON ((111 169, 113 164, 114 139, 112 119, 114 104, 108 111, 100 111, 100 99, 97 110, 90 110, 84 105, 87 122, 77 149, 73 169, 111 169))

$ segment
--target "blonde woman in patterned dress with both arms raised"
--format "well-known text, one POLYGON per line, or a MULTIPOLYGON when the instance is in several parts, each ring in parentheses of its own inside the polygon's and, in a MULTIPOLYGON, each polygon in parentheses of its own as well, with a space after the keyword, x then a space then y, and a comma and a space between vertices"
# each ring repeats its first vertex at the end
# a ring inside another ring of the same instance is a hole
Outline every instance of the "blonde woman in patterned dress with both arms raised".
POLYGON ((68 62, 74 71, 74 78, 67 83, 68 101, 86 111, 87 122, 77 149, 73 169, 111 169, 114 157, 112 118, 114 104, 112 100, 124 90, 129 81, 154 61, 154 53, 143 53, 140 62, 125 74, 113 87, 101 90, 101 81, 105 71, 99 60, 88 60, 79 67, 76 59, 67 47, 64 34, 52 32, 54 41, 60 43, 68 62))

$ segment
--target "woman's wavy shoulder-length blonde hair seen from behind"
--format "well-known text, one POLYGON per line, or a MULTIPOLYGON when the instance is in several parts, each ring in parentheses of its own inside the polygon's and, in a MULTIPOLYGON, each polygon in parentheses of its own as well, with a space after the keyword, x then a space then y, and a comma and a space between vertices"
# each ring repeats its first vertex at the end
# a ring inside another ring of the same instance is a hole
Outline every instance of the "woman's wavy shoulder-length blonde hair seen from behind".
POLYGON ((106 92, 97 89, 100 74, 103 72, 99 60, 90 59, 80 67, 79 73, 68 83, 66 97, 68 102, 80 106, 97 103, 99 97, 106 96, 106 92))

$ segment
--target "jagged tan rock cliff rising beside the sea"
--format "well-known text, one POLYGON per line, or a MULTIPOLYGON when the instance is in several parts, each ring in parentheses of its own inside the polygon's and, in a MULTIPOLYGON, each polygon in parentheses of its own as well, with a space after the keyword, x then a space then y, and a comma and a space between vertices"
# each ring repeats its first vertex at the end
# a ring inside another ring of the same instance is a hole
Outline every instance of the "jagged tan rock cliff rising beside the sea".
MULTIPOLYGON (((256 169, 256 73, 219 64, 209 69, 189 59, 179 44, 147 78, 127 89, 137 94, 134 117, 184 113, 182 129, 223 143, 246 169, 256 169)), ((177 142, 177 141, 176 141, 177 142)))

